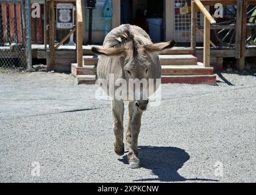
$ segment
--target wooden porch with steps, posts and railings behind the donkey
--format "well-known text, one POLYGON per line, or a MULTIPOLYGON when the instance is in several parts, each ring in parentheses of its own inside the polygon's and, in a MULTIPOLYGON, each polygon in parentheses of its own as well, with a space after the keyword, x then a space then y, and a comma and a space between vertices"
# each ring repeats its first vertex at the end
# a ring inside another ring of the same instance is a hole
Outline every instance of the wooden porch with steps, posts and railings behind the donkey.
MULTIPOLYGON (((71 35, 68 34, 59 44, 54 44, 54 30, 55 30, 55 16, 54 4, 56 2, 66 2, 63 0, 47 1, 48 16, 49 16, 49 49, 47 43, 43 48, 34 48, 34 56, 38 59, 47 59, 49 69, 61 71, 70 71, 77 77, 78 83, 94 83, 96 75, 96 65, 98 57, 91 54, 91 46, 83 46, 83 16, 81 0, 72 1, 76 4, 76 27, 72 30, 76 33, 76 47, 62 46, 62 43, 71 35), (70 66, 71 65, 71 66, 70 66), (93 67, 92 67, 93 66, 93 67)), ((70 1, 69 1, 70 2, 70 1)), ((256 55, 256 46, 246 47, 244 28, 246 28, 245 21, 245 7, 247 5, 256 5, 256 1, 208 1, 208 0, 194 0, 191 3, 191 46, 190 48, 174 48, 165 54, 160 55, 163 67, 163 83, 167 82, 181 82, 181 83, 210 83, 215 84, 216 76, 213 74, 213 67, 215 69, 221 68, 222 59, 224 57, 235 57, 238 59, 238 68, 242 71, 244 69, 245 57, 256 55), (218 28, 215 26, 216 21, 213 16, 205 9, 205 5, 215 5, 216 3, 223 5, 236 5, 240 9, 237 13, 238 21, 236 24, 236 46, 235 48, 218 48, 210 40, 210 30, 218 28), (196 26, 196 8, 204 15, 203 30, 196 26), (245 21, 245 22, 244 22, 245 21), (196 46, 196 31, 199 30, 204 37, 204 47, 196 46), (212 46, 212 47, 211 47, 212 46), (196 56, 196 62, 188 62, 191 58, 196 56), (180 58, 185 58, 183 63, 179 63, 180 58), (174 58, 174 59, 173 59, 174 58), (165 59, 165 60, 164 60, 165 59), (166 61, 167 63, 165 63, 166 61), (198 62, 201 61, 202 63, 198 62), (168 65, 166 67, 166 65, 168 65), (179 66, 183 65, 183 66, 179 66), (207 74, 202 74, 207 73, 207 74), (198 79, 197 79, 198 78, 198 79), (210 79, 209 79, 210 78, 210 79), (210 80, 210 81, 209 81, 210 80)))

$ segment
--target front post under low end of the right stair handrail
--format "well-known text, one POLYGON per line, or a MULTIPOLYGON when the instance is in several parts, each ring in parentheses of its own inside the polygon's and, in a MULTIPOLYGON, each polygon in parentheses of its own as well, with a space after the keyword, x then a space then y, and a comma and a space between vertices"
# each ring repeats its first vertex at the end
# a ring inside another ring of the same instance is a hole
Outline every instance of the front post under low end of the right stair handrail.
POLYGON ((210 67, 210 22, 204 16, 204 66, 210 67))

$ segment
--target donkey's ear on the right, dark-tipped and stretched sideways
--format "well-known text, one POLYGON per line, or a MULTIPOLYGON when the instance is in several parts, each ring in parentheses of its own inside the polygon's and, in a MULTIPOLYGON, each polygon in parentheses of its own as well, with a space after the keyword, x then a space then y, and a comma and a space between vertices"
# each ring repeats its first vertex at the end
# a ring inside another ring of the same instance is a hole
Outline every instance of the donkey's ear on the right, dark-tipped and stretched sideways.
POLYGON ((165 43, 155 43, 155 44, 146 44, 144 45, 144 49, 146 53, 154 53, 154 52, 161 52, 165 49, 170 49, 173 48, 176 44, 175 40, 171 40, 165 43))

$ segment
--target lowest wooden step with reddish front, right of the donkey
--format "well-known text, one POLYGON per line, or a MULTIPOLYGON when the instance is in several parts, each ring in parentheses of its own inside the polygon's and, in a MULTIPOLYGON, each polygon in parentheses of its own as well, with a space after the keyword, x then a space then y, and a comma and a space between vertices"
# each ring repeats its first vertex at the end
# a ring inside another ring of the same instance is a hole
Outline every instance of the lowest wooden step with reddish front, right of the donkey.
POLYGON ((216 75, 162 76, 162 83, 216 85, 216 75))

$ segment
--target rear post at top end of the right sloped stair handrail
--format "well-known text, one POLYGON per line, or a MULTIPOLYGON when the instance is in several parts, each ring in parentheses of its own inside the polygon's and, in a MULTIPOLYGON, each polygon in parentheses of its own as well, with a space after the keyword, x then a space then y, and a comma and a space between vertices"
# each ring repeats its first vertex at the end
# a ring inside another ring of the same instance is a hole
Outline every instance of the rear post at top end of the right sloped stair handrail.
POLYGON ((191 2, 191 49, 194 55, 196 55, 196 3, 191 2))

